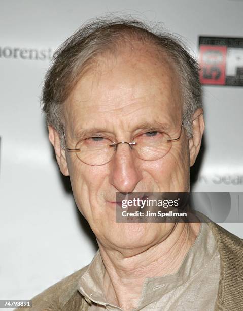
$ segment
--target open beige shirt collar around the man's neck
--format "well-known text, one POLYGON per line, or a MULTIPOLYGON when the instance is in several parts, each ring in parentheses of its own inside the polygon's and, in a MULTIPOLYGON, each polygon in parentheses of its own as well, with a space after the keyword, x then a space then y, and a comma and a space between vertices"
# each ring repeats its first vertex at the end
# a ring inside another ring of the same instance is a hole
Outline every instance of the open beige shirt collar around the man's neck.
MULTIPOLYGON (((217 245, 209 226, 206 223, 201 223, 199 234, 187 252, 178 271, 175 274, 162 277, 148 277, 145 279, 138 304, 139 307, 144 307, 159 300, 165 293, 185 284, 189 279, 195 277, 211 261, 216 251, 217 245)), ((88 302, 93 301, 104 306, 110 305, 120 309, 109 303, 103 296, 104 274, 105 266, 98 250, 89 268, 80 278, 78 290, 88 302)))

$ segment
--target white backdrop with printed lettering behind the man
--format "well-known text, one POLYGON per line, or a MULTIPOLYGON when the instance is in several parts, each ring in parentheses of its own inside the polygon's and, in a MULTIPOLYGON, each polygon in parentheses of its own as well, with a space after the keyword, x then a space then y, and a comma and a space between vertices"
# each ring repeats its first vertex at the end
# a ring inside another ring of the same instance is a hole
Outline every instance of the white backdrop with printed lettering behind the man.
MULTIPOLYGON (((41 114, 50 51, 87 19, 118 11, 164 22, 197 55, 199 35, 243 37, 243 2, 2 0, 0 8, 0 299, 30 299, 88 264, 96 250, 41 114)), ((242 192, 243 88, 203 91, 205 151, 193 190, 242 192)), ((223 226, 243 237, 240 223, 223 226)))

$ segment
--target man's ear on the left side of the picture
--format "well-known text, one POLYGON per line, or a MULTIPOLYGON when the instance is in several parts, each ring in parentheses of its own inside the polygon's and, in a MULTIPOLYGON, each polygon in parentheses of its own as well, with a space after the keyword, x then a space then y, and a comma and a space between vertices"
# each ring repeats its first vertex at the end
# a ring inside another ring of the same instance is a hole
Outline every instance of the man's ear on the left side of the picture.
POLYGON ((48 126, 48 131, 49 131, 49 140, 54 147, 56 160, 59 165, 60 171, 64 176, 68 176, 69 172, 67 168, 66 154, 65 150, 61 147, 60 136, 52 126, 48 126))

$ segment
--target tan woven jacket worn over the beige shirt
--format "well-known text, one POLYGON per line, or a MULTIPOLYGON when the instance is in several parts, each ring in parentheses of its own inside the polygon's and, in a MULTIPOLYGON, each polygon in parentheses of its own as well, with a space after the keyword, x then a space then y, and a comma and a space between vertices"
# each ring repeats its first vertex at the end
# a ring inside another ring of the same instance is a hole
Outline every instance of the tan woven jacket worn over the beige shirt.
MULTIPOLYGON (((209 223, 220 253, 221 272, 215 311, 243 311, 243 240, 209 223)), ((32 308, 15 311, 86 311, 89 304, 77 290, 88 266, 65 277, 32 299, 32 308)), ((188 310, 189 311, 189 310, 188 310)), ((205 310, 206 311, 206 310, 205 310)))

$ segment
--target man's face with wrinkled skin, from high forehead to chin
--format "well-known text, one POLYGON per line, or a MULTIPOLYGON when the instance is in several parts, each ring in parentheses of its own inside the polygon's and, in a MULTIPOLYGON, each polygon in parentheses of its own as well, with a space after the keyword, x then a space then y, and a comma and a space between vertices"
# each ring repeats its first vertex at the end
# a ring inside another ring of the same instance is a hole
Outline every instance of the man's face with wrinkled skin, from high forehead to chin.
MULTIPOLYGON (((75 148, 83 130, 97 128, 97 135, 117 142, 130 142, 144 133, 144 123, 160 122, 171 138, 180 135, 182 101, 176 71, 149 49, 138 44, 133 51, 104 56, 81 78, 64 107, 68 148, 75 148)), ((113 159, 101 166, 85 164, 75 153, 62 154, 76 204, 99 243, 117 249, 146 248, 171 229, 172 224, 116 223, 116 192, 188 191, 190 153, 183 128, 181 138, 156 161, 136 158, 128 144, 119 144, 113 159)))

